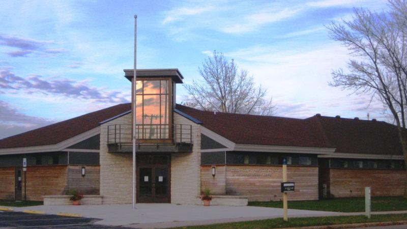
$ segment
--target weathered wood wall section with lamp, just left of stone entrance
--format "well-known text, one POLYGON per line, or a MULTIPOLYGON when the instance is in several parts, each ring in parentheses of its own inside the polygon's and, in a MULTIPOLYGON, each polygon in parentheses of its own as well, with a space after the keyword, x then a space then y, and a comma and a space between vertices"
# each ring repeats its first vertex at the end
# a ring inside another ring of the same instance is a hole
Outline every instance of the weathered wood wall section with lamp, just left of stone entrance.
POLYGON ((68 189, 75 189, 86 195, 99 195, 100 166, 99 165, 69 165, 68 189), (82 177, 82 167, 85 176, 82 177))

